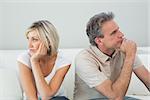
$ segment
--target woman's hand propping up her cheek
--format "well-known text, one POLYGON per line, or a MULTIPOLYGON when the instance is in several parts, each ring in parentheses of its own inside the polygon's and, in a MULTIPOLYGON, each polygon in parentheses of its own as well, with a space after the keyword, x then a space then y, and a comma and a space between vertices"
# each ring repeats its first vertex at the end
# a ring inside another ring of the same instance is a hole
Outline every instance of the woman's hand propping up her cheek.
POLYGON ((42 57, 44 57, 45 55, 47 55, 47 48, 46 48, 46 46, 44 45, 44 43, 42 42, 42 43, 39 45, 39 48, 38 48, 38 50, 36 51, 36 53, 31 56, 31 61, 38 62, 38 61, 39 61, 42 57))

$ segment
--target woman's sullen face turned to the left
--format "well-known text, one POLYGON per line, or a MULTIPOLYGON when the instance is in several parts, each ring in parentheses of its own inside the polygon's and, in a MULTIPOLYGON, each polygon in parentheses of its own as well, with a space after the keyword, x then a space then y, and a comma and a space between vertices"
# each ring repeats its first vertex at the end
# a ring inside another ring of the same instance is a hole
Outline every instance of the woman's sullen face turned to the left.
POLYGON ((29 53, 32 56, 38 50, 41 40, 39 39, 36 30, 30 31, 27 35, 27 39, 28 39, 29 53))

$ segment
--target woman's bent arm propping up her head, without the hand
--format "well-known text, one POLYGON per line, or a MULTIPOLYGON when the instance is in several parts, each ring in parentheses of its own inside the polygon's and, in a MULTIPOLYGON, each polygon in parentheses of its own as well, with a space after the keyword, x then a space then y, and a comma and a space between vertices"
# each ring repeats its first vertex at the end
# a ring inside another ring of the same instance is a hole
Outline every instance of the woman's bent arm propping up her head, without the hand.
POLYGON ((41 71, 39 63, 31 61, 31 64, 32 64, 33 74, 35 77, 36 86, 42 100, 49 99, 51 96, 55 95, 55 93, 60 88, 70 65, 64 66, 61 69, 59 69, 55 73, 50 83, 47 84, 47 82, 44 79, 44 75, 41 71))

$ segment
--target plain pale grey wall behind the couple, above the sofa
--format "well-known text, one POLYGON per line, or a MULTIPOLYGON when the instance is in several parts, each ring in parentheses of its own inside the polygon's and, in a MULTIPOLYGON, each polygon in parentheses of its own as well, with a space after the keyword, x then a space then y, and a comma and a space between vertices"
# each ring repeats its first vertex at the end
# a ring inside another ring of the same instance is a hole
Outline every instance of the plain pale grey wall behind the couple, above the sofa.
POLYGON ((127 38, 135 40, 138 46, 150 46, 148 7, 148 0, 1 0, 0 49, 27 48, 24 32, 40 19, 47 19, 56 26, 61 48, 87 47, 86 23, 102 11, 115 13, 127 38))

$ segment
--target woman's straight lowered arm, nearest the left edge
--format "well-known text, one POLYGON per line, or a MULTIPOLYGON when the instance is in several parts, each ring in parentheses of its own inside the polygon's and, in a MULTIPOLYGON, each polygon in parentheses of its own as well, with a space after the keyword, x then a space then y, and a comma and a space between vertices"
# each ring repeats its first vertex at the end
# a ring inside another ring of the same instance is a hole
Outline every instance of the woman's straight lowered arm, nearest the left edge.
POLYGON ((23 90, 28 100, 38 100, 37 90, 31 69, 26 65, 18 62, 19 65, 19 76, 23 90))

